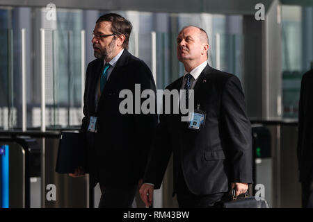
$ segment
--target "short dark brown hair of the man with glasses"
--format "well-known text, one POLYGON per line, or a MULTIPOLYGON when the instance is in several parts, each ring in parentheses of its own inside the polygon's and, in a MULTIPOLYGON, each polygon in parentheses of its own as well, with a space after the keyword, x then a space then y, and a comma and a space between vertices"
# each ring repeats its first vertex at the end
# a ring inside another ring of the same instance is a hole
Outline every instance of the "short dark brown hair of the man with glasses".
POLYGON ((109 13, 100 16, 96 23, 98 22, 111 22, 111 31, 113 33, 116 35, 125 35, 125 41, 122 46, 124 49, 128 49, 129 36, 133 26, 131 26, 131 23, 125 17, 116 13, 109 13))

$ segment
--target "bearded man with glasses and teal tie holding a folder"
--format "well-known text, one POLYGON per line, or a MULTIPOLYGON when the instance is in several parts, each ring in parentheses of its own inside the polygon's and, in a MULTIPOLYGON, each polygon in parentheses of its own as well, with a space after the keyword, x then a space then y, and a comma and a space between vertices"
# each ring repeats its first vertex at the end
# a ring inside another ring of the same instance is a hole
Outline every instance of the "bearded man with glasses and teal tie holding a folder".
POLYGON ((134 95, 135 84, 140 84, 141 92, 155 92, 149 67, 127 51, 131 28, 127 19, 109 13, 97 19, 93 31, 97 59, 86 71, 81 125, 88 143, 88 164, 70 176, 88 171, 90 186, 99 182, 99 207, 132 206, 157 125, 157 114, 121 114, 119 110, 121 90, 128 89, 134 95))

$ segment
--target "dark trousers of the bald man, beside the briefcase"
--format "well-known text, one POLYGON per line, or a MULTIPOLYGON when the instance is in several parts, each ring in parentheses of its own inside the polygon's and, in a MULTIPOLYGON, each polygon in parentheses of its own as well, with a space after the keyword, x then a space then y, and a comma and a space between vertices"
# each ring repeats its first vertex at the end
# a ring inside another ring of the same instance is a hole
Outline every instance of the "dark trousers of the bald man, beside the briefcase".
POLYGON ((189 191, 182 171, 179 171, 177 182, 177 202, 179 208, 221 208, 223 201, 228 200, 230 194, 218 193, 209 195, 195 195, 189 191))

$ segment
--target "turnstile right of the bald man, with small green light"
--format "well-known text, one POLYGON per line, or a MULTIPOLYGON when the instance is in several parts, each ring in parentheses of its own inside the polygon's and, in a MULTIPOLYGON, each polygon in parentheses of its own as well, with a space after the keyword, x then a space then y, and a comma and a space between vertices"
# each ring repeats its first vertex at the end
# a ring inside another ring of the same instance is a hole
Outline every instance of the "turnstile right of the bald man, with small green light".
POLYGON ((253 123, 252 132, 255 133, 253 135, 255 185, 264 185, 265 198, 270 207, 301 207, 301 186, 298 181, 296 155, 297 121, 273 119, 251 120, 251 123, 253 123))

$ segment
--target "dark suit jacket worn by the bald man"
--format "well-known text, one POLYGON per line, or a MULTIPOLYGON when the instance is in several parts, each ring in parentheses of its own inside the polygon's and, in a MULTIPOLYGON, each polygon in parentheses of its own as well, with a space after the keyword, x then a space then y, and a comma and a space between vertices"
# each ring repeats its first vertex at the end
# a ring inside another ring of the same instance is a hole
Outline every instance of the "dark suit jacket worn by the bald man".
MULTIPOLYGON (((182 80, 167 89, 179 90, 182 80)), ((207 65, 194 90, 195 108, 200 103, 207 114, 205 125, 190 130, 180 114, 161 114, 144 182, 159 189, 173 152, 174 191, 179 167, 188 189, 197 195, 228 191, 230 182, 252 183, 252 135, 239 79, 207 65)))

